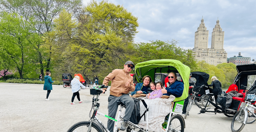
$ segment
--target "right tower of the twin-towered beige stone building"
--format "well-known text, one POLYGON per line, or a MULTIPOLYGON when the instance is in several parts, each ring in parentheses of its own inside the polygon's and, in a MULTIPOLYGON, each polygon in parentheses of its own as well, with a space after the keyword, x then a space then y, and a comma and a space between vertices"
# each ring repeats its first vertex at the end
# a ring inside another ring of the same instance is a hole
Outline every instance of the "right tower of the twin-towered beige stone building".
POLYGON ((211 48, 223 49, 223 44, 224 44, 224 31, 222 31, 222 28, 220 27, 220 21, 218 18, 212 32, 211 48))

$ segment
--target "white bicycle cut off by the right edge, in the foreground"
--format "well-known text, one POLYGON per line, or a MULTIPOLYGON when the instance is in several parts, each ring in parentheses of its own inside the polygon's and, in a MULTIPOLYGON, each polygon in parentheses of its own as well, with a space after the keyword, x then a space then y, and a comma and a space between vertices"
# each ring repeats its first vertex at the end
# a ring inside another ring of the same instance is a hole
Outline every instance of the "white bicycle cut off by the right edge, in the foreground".
POLYGON ((256 107, 252 105, 252 102, 256 101, 256 92, 254 91, 253 94, 247 94, 247 92, 248 91, 245 92, 245 102, 243 106, 232 119, 232 132, 240 132, 245 124, 252 124, 256 121, 256 107))

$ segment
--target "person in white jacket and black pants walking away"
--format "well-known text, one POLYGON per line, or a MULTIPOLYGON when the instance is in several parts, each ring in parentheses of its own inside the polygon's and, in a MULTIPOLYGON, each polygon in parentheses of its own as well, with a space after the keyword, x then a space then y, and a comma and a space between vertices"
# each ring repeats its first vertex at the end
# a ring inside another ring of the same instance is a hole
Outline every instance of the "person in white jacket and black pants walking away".
POLYGON ((79 80, 80 80, 80 77, 76 75, 75 78, 71 81, 72 92, 73 92, 73 96, 71 98, 72 105, 75 104, 74 103, 75 96, 77 97, 79 103, 83 102, 83 100, 80 100, 79 90, 80 90, 80 86, 83 87, 84 89, 85 89, 85 86, 81 84, 79 80))

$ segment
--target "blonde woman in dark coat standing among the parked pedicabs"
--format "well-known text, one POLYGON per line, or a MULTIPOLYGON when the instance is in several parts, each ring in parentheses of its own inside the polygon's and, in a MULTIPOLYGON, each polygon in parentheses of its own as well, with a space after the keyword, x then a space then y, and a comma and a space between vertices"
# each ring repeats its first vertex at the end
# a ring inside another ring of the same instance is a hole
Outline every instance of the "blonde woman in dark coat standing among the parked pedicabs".
MULTIPOLYGON (((217 103, 217 98, 218 98, 218 93, 222 92, 221 89, 221 83, 220 81, 216 78, 216 76, 212 77, 212 84, 208 85, 208 86, 213 86, 213 95, 214 95, 214 99, 215 99, 215 104, 217 103)), ((217 104, 216 104, 217 105, 217 104)))

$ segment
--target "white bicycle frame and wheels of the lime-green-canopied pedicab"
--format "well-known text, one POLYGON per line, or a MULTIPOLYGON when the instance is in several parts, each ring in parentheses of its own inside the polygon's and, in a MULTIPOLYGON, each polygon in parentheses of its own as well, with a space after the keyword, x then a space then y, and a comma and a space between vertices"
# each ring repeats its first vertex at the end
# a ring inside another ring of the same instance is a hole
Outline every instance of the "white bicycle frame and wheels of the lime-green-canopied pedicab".
MULTIPOLYGON (((108 119, 115 121, 116 123, 115 123, 115 127, 114 127, 114 132, 116 132, 116 131, 118 132, 120 130, 120 129, 117 129, 117 125, 118 125, 118 123, 121 123, 123 121, 123 118, 120 115, 122 112, 122 108, 125 108, 125 104, 123 104, 120 101, 117 102, 118 105, 121 106, 120 110, 118 112, 117 119, 111 118, 111 117, 109 117, 103 113, 100 113, 98 111, 98 109, 99 109, 99 103, 97 103, 98 97, 103 92, 102 88, 107 88, 107 87, 108 86, 102 85, 102 86, 97 86, 94 89, 90 89, 90 94, 93 95, 92 109, 89 113, 90 120, 85 121, 85 122, 76 123, 68 130, 68 132, 93 132, 93 131, 109 132, 107 127, 99 120, 99 118, 97 117, 96 114, 102 115, 104 117, 107 117, 108 119), (95 95, 96 95, 96 97, 95 97, 95 95), (93 110, 93 114, 91 114, 92 110, 93 110)), ((148 114, 148 112, 147 112, 147 114, 148 114)), ((172 112, 170 113, 170 115, 172 115, 172 112)), ((147 123, 146 129, 143 129, 143 128, 139 127, 138 125, 131 123, 130 121, 128 121, 127 123, 128 123, 128 128, 126 129, 127 132, 136 132, 135 129, 139 129, 139 131, 141 131, 141 132, 148 131, 148 123, 147 123)), ((184 123, 184 120, 181 115, 169 116, 167 130, 168 130, 168 132, 184 132, 184 127, 185 127, 184 124, 185 123, 184 123)))

